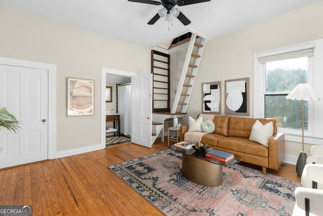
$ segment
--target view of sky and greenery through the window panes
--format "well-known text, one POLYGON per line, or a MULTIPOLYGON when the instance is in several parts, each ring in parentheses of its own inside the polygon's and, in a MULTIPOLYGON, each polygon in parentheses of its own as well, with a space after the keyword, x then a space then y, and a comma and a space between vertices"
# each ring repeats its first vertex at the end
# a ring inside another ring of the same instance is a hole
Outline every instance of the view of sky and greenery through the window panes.
MULTIPOLYGON (((299 83, 307 83, 310 57, 265 62, 264 117, 275 118, 277 126, 302 129, 302 101, 286 96, 299 83)), ((308 130, 308 101, 304 101, 304 131, 308 130)))

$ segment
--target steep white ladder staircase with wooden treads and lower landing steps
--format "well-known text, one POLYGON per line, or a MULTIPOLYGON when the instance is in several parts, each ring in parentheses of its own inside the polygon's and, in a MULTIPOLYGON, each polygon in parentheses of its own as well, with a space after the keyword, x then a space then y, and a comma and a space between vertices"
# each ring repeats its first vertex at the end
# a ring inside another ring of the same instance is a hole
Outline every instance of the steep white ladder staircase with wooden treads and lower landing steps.
POLYGON ((175 116, 181 118, 186 114, 205 42, 204 38, 197 37, 196 34, 192 33, 171 113, 152 113, 153 134, 151 144, 155 142, 160 132, 161 142, 164 142, 164 122, 166 119, 175 116))

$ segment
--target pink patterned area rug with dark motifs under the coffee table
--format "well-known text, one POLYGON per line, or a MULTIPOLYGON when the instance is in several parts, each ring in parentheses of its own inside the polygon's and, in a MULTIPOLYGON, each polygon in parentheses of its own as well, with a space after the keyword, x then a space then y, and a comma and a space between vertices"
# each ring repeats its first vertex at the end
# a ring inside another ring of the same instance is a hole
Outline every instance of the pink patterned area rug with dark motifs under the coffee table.
POLYGON ((166 215, 291 215, 301 186, 235 164, 223 167, 221 186, 206 187, 183 177, 181 167, 181 153, 171 149, 109 166, 166 215))

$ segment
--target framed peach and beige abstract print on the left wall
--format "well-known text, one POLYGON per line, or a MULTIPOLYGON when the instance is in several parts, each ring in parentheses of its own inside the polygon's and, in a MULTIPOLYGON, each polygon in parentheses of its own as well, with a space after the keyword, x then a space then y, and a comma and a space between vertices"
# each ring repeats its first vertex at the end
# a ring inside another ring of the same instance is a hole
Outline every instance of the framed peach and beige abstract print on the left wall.
POLYGON ((94 80, 67 77, 67 116, 94 115, 94 80))

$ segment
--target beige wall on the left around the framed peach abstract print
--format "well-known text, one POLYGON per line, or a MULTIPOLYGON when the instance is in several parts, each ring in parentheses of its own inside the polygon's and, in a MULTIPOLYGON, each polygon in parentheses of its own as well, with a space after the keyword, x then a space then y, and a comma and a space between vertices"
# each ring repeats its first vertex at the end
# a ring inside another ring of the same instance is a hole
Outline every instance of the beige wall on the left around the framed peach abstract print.
POLYGON ((150 50, 4 5, 0 29, 1 57, 57 65, 57 151, 100 144, 101 67, 150 73, 150 50), (66 117, 66 77, 95 80, 95 115, 66 117))

